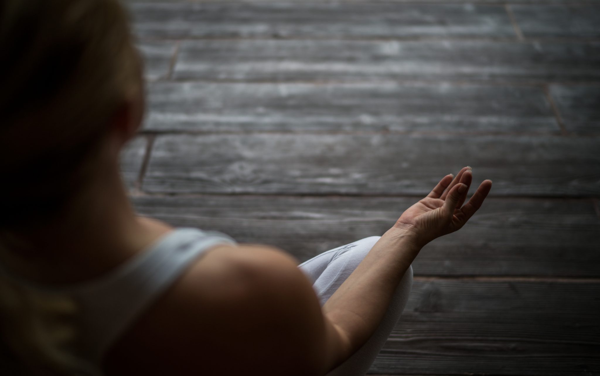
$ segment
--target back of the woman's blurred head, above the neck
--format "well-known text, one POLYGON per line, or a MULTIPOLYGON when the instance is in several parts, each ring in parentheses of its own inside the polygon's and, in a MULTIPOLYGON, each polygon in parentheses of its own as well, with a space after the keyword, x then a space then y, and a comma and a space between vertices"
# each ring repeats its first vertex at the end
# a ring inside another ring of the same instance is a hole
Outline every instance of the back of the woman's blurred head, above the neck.
POLYGON ((0 228, 51 218, 139 86, 116 0, 0 2, 0 228))

